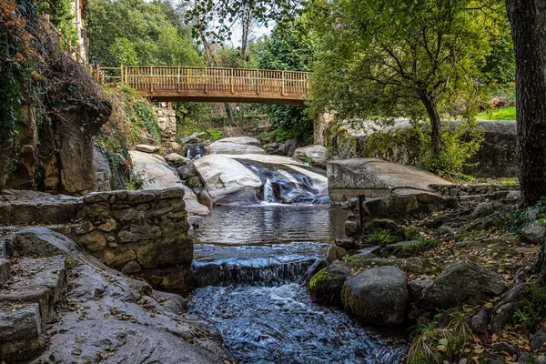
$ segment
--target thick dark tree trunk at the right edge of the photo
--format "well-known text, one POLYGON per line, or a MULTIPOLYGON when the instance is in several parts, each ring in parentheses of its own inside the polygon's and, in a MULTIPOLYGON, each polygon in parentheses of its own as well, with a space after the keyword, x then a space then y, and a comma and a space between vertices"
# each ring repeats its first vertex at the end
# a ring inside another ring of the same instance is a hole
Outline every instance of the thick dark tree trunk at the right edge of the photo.
POLYGON ((518 166, 524 206, 546 196, 546 1, 506 0, 516 54, 518 166))

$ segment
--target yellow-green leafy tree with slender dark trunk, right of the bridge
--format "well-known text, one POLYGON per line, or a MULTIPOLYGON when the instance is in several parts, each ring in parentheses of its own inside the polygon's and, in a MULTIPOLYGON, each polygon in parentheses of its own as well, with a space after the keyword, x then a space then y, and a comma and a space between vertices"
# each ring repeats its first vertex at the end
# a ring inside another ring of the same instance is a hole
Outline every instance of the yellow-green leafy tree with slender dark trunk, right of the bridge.
POLYGON ((490 46, 483 11, 490 7, 474 8, 473 0, 315 3, 323 46, 314 109, 360 118, 427 116, 431 153, 439 156, 440 115, 457 108, 455 96, 463 96, 465 116, 477 111, 479 64, 490 46))

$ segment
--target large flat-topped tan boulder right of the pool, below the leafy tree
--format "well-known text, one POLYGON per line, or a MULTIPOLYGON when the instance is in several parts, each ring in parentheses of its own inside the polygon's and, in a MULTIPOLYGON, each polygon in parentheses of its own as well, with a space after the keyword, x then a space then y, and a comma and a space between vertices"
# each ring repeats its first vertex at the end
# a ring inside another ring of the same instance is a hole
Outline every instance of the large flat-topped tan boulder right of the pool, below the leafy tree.
POLYGON ((443 178, 418 167, 402 166, 373 158, 335 160, 328 163, 329 195, 334 201, 349 198, 389 197, 399 194, 434 193, 431 185, 450 185, 443 178))

